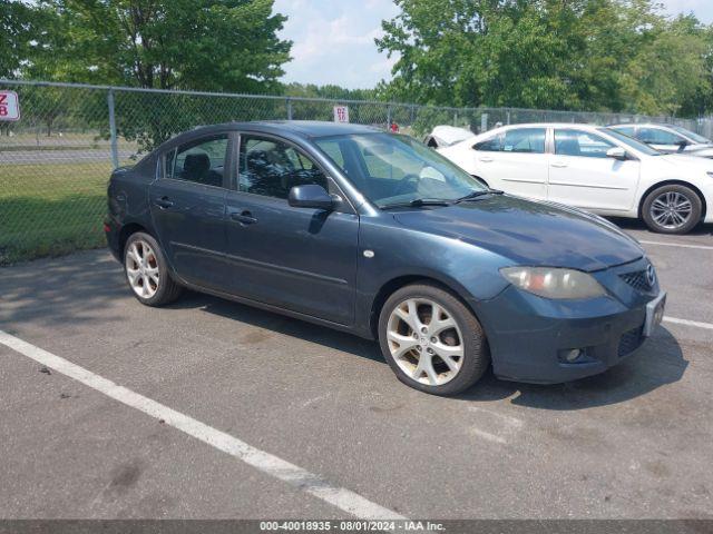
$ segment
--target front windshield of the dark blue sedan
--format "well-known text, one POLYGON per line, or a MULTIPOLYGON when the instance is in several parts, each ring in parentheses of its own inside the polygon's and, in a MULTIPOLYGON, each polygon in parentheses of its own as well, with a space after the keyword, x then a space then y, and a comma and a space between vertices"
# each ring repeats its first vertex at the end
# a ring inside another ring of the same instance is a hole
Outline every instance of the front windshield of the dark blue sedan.
POLYGON ((419 141, 393 134, 315 140, 361 192, 380 208, 453 201, 487 188, 419 141))

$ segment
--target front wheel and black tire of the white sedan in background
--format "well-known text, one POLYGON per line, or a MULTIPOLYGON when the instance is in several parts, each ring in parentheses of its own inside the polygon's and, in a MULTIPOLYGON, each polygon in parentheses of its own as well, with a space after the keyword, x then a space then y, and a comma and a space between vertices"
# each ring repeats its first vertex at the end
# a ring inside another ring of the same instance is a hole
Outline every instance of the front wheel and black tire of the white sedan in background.
POLYGON ((687 234, 701 221, 702 211, 699 195, 677 184, 654 189, 642 206, 644 222, 658 234, 687 234))

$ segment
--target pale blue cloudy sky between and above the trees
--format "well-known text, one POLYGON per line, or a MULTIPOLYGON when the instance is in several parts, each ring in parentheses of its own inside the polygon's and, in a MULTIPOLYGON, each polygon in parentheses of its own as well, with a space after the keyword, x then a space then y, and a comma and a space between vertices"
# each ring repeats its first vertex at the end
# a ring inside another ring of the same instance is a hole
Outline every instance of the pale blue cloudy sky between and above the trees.
MULTIPOLYGON (((660 0, 666 12, 693 12, 713 22, 713 0, 660 0)), ((393 58, 379 53, 381 20, 397 14, 391 0, 275 0, 290 17, 281 33, 294 41, 284 81, 370 88, 391 78, 393 58)))

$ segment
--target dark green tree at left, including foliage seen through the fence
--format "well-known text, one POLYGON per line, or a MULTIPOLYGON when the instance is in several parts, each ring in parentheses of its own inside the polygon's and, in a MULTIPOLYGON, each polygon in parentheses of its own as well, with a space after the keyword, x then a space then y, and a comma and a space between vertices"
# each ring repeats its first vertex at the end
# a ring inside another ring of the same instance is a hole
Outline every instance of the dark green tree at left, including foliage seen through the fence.
MULTIPOLYGON (((285 17, 272 12, 273 0, 40 0, 28 9, 53 14, 43 20, 46 43, 29 50, 21 65, 21 75, 31 79, 279 92, 282 65, 290 59, 292 43, 277 38, 285 17)), ((41 99, 26 99, 48 135, 58 120, 76 117, 108 137, 105 91, 80 101, 55 98, 62 95, 46 90, 41 99)), ((148 150, 196 125, 253 118, 261 111, 231 103, 117 91, 117 130, 148 150)))

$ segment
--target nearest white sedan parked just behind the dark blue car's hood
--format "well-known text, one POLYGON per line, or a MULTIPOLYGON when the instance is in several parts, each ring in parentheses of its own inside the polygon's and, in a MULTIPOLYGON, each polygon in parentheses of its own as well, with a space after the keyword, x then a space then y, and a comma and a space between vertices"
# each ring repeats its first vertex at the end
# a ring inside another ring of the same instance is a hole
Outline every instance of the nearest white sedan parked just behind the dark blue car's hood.
POLYGON ((654 231, 713 222, 713 161, 664 155, 607 128, 506 126, 438 151, 494 189, 642 218, 654 231))

